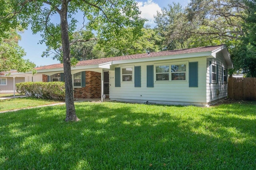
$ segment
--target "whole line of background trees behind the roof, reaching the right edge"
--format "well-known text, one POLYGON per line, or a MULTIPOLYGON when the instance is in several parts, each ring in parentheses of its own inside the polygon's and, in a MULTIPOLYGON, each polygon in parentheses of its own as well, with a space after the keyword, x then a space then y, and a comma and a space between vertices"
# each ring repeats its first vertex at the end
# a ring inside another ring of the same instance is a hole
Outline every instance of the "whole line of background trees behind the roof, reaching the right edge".
POLYGON ((137 39, 127 36, 98 43, 90 32, 90 38, 95 39, 79 42, 88 31, 76 31, 71 55, 81 61, 226 44, 234 63, 230 74, 256 77, 255 0, 192 0, 186 7, 173 3, 154 19, 156 26, 144 26, 137 39))

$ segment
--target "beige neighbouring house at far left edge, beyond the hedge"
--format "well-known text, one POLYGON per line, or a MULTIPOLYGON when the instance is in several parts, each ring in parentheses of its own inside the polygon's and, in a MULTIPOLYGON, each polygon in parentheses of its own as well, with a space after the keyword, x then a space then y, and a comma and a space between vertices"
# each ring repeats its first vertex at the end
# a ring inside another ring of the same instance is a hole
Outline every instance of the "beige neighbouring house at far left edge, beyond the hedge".
POLYGON ((15 84, 25 82, 24 76, 8 76, 8 73, 13 74, 15 72, 16 70, 10 70, 10 72, 0 72, 0 93, 16 92, 15 84))

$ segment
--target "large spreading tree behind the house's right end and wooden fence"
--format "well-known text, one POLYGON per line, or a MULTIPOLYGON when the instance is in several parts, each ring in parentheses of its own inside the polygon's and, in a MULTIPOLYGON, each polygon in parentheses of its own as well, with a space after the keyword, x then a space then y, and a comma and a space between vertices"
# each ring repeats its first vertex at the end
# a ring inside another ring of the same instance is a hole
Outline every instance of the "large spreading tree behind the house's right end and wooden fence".
POLYGON ((234 71, 256 77, 255 0, 191 0, 169 5, 155 17, 168 50, 226 44, 234 71))

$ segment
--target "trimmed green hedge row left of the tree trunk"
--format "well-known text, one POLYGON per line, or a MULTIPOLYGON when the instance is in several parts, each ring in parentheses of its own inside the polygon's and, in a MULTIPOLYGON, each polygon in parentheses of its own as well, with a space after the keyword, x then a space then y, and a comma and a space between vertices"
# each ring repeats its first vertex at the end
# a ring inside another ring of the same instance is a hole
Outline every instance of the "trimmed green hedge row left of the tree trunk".
POLYGON ((63 100, 65 97, 64 82, 22 82, 16 87, 18 93, 32 98, 63 100))

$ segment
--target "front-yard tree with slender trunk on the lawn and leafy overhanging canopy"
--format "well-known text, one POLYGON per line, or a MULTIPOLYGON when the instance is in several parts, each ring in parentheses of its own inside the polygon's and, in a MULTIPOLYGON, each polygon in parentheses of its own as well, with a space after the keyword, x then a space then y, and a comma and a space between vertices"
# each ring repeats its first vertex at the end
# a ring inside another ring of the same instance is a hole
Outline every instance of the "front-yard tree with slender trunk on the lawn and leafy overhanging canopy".
MULTIPOLYGON (((139 35, 144 20, 134 0, 0 0, 0 23, 4 28, 32 25, 33 33, 40 32, 41 43, 58 52, 62 58, 65 77, 66 121, 78 121, 76 116, 70 57, 70 36, 76 29, 74 17, 78 11, 84 14, 88 31, 96 31, 99 42, 139 35), (60 17, 56 22, 56 15, 60 17)), ((84 40, 86 41, 86 40, 84 40)))

